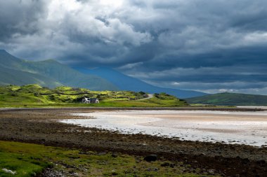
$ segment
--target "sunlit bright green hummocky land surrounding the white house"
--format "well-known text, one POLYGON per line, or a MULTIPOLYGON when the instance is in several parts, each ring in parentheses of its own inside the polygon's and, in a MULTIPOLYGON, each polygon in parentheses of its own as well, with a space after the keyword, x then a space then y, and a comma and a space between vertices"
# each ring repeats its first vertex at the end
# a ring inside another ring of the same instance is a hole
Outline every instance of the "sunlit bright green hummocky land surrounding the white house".
POLYGON ((186 102, 169 94, 155 94, 151 99, 145 92, 91 91, 60 86, 56 89, 40 85, 8 85, 0 87, 0 107, 155 107, 186 106, 186 102), (100 104, 82 104, 84 97, 96 97, 100 104), (141 100, 143 99, 143 100, 141 100))

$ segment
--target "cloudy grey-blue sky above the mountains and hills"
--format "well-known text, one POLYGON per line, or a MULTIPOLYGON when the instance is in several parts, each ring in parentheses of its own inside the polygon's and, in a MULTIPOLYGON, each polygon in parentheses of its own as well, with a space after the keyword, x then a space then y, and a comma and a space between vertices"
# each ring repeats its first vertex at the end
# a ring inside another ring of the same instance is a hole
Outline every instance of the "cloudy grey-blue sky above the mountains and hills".
POLYGON ((0 48, 160 87, 267 94, 266 0, 0 1, 0 48))

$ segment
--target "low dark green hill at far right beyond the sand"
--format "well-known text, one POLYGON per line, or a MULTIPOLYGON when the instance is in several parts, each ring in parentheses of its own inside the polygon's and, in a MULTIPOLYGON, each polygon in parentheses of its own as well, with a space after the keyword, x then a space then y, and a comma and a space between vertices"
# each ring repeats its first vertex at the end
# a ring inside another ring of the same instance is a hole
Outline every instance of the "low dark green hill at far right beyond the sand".
POLYGON ((186 99, 189 104, 228 106, 267 106, 267 96, 259 94, 219 93, 186 99))

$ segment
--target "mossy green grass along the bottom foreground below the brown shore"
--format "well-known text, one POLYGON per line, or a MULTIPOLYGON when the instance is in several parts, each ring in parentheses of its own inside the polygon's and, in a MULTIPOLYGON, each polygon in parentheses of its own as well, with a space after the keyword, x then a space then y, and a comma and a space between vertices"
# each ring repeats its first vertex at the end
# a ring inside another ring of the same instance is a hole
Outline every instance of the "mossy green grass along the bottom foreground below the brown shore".
POLYGON ((46 168, 65 176, 203 176, 186 172, 190 166, 183 162, 168 162, 174 167, 162 167, 164 163, 167 161, 145 162, 143 157, 130 155, 0 141, 0 176, 36 176, 46 168), (4 168, 16 174, 7 174, 4 168))

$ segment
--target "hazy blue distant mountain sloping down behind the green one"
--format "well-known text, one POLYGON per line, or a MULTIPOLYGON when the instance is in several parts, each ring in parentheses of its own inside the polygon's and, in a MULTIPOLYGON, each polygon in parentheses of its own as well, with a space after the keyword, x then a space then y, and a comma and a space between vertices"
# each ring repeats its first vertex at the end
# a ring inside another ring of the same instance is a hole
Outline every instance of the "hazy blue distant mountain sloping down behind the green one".
POLYGON ((145 83, 137 78, 126 76, 123 73, 120 73, 119 71, 115 71, 114 69, 109 69, 105 67, 97 69, 84 69, 76 67, 74 69, 80 71, 81 73, 93 74, 101 78, 105 78, 106 80, 109 80, 110 83, 119 87, 119 90, 131 90, 135 92, 143 91, 148 93, 166 92, 167 94, 174 95, 181 99, 206 95, 205 93, 191 90, 177 90, 171 88, 156 87, 154 85, 145 83))

